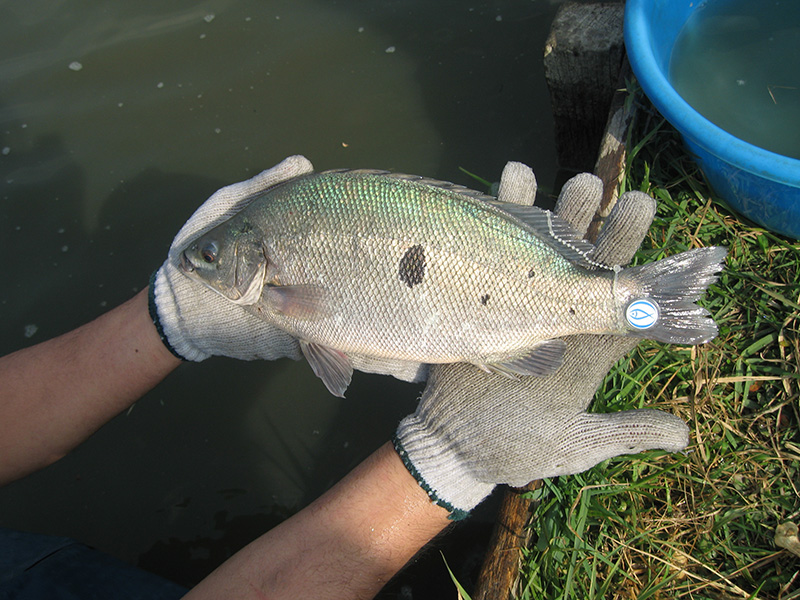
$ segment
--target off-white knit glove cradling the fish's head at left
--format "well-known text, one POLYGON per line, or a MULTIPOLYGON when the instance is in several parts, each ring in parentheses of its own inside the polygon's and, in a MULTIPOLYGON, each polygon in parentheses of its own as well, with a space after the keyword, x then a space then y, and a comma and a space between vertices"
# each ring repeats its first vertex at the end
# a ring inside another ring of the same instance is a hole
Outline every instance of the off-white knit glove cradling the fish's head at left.
POLYGON ((230 218, 253 196, 313 170, 305 157, 290 156, 252 179, 218 190, 184 224, 150 282, 150 315, 174 354, 194 361, 212 355, 244 360, 300 358, 294 337, 186 277, 178 269, 178 255, 190 240, 230 218))

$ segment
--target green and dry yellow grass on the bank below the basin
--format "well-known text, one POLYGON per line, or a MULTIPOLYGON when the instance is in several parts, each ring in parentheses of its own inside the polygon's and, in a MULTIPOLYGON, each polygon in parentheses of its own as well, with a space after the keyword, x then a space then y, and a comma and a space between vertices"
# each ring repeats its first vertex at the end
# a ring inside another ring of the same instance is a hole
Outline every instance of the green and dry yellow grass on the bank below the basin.
POLYGON ((800 243, 738 219, 674 130, 638 112, 623 187, 659 208, 636 260, 727 246, 703 301, 720 334, 643 342, 609 374, 595 411, 672 412, 691 445, 546 481, 517 596, 800 599, 800 558, 774 543, 779 524, 800 521, 800 243))

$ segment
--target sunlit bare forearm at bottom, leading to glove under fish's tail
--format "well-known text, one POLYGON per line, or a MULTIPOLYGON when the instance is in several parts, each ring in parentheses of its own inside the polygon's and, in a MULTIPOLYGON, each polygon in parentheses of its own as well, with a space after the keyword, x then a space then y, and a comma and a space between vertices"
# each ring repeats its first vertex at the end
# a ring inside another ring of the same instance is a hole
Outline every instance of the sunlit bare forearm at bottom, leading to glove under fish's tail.
POLYGON ((372 598, 448 523, 386 444, 186 598, 372 598))

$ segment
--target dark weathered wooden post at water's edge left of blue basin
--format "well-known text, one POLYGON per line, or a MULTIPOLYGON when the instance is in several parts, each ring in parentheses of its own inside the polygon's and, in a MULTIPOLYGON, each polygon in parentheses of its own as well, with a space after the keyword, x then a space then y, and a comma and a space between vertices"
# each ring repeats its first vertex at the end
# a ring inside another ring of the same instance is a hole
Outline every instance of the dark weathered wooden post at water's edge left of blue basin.
POLYGON ((562 169, 591 171, 624 55, 620 2, 563 5, 544 49, 562 169))

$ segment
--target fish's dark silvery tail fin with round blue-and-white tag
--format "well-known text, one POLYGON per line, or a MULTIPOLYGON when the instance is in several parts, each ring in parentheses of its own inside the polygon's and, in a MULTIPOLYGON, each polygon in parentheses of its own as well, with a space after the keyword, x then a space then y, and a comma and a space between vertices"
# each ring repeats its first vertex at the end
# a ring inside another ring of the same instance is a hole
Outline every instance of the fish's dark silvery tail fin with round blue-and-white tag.
POLYGON ((670 344, 703 344, 717 336, 709 312, 697 306, 717 280, 726 248, 697 248, 620 273, 638 290, 626 306, 628 333, 670 344))

